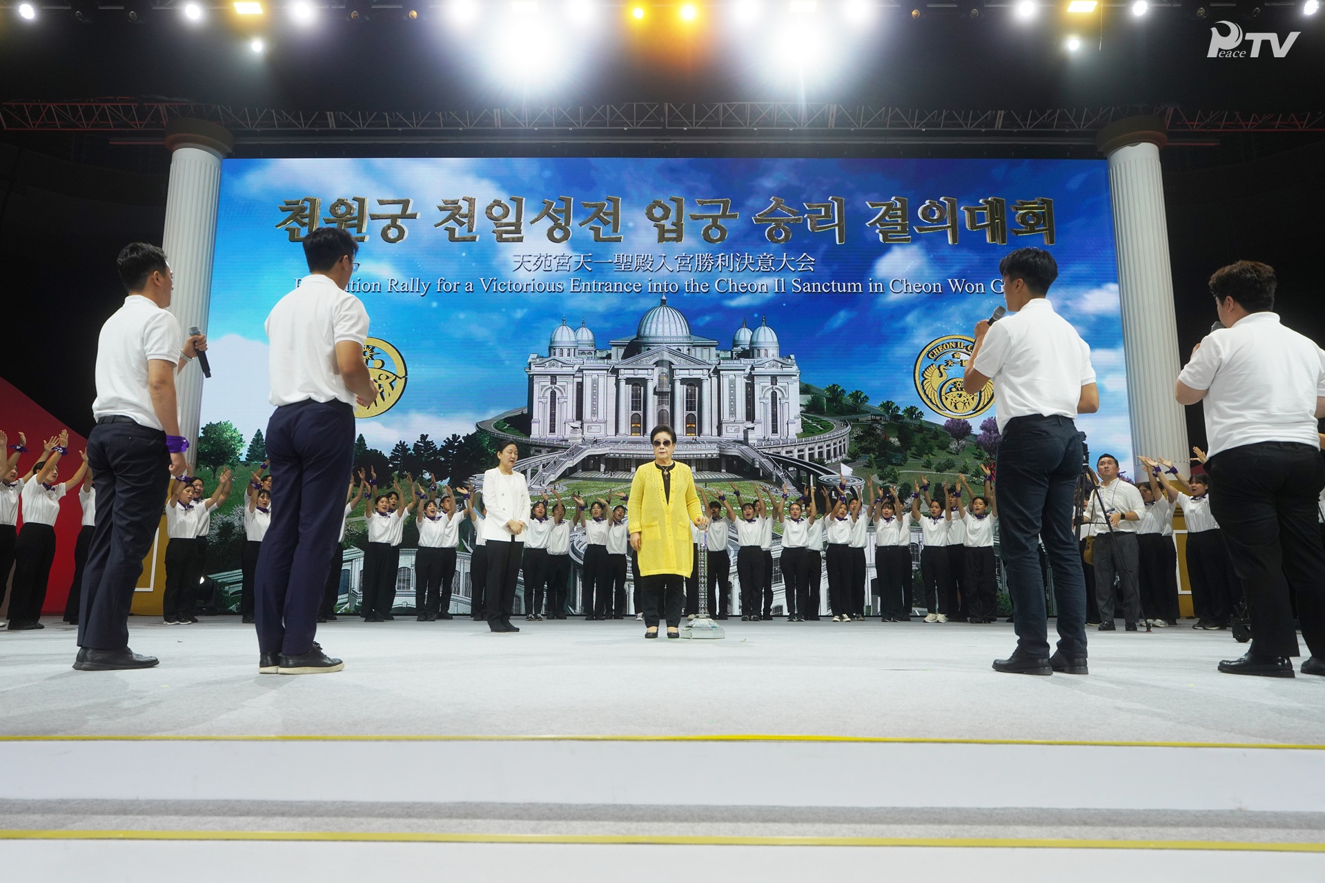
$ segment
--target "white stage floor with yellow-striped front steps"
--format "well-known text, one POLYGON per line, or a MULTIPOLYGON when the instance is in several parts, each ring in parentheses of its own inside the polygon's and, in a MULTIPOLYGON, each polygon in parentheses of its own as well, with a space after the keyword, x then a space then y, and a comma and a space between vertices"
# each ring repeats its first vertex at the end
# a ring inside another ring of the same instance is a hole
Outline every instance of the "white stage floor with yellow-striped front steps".
POLYGON ((69 838, 73 875, 189 846, 217 880, 782 879, 829 854, 843 879, 1322 872, 1325 679, 1220 675, 1228 633, 1092 631, 1089 676, 1027 678, 988 669, 1006 624, 517 624, 341 620, 318 637, 346 671, 311 678, 258 675, 233 618, 135 617, 163 661, 136 673, 73 671, 49 620, 3 634, 0 857, 49 874, 41 841, 69 838))

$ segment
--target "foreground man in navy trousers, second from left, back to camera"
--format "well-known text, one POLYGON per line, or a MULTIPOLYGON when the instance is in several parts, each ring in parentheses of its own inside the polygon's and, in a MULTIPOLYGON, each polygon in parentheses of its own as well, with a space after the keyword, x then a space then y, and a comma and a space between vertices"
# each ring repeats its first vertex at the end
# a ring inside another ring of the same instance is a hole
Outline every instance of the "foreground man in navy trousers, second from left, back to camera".
POLYGON ((354 461, 354 405, 378 395, 363 360, 368 314, 344 290, 358 248, 339 228, 309 233, 309 275, 266 318, 276 405, 266 453, 274 494, 254 580, 258 669, 265 671, 344 667, 313 638, 354 461))

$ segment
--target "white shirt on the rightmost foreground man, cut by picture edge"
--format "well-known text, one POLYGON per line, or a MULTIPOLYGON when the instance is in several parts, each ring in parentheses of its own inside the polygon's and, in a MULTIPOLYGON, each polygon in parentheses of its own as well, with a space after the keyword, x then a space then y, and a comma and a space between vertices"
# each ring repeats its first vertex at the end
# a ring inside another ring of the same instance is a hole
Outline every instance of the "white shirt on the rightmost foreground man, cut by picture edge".
POLYGON ((1277 312, 1252 312, 1211 331, 1178 380, 1207 391, 1208 457, 1267 441, 1320 447, 1316 397, 1325 396, 1325 352, 1280 324, 1277 312))

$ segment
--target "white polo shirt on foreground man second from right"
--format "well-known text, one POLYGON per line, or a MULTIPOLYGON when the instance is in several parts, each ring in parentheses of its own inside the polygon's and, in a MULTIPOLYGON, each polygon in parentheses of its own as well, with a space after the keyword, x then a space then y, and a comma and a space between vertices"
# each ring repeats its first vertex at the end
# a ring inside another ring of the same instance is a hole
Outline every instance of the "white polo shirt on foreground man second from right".
POLYGON ((975 369, 994 381, 999 432, 1014 417, 1076 418, 1081 387, 1094 383, 1090 347, 1044 298, 990 327, 975 369))

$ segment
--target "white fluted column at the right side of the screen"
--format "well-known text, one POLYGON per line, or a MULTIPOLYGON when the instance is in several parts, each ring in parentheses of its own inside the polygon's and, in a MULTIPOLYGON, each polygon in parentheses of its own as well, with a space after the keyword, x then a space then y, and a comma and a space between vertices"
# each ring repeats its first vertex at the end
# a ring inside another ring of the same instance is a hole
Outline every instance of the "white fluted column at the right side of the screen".
MULTIPOLYGON (((1163 120, 1122 119, 1104 128, 1096 143, 1109 158, 1133 455, 1170 458, 1186 474, 1187 422, 1173 397, 1182 361, 1159 169, 1159 148, 1167 143, 1163 120)), ((1137 469, 1130 463, 1132 474, 1137 469)))

